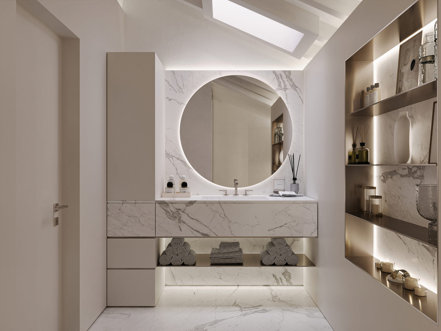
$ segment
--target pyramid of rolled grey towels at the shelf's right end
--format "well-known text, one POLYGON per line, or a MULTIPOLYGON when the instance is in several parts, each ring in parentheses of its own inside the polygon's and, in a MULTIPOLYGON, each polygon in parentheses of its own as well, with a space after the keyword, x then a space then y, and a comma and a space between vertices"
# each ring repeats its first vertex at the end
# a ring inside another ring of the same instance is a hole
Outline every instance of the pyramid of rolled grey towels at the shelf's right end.
POLYGON ((299 262, 299 257, 292 252, 284 238, 271 238, 271 241, 266 244, 266 249, 260 252, 260 260, 265 266, 274 263, 277 266, 283 266, 286 263, 295 266, 299 262))

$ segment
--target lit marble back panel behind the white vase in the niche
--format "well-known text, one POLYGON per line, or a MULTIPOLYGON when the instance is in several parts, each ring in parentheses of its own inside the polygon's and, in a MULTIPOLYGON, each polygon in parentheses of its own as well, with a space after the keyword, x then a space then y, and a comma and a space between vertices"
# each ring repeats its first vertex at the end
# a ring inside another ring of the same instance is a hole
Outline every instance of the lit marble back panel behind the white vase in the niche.
POLYGON ((376 159, 373 161, 376 164, 396 163, 393 134, 395 122, 401 111, 408 112, 412 124, 411 163, 429 163, 430 127, 433 103, 436 100, 437 98, 433 98, 375 117, 376 132, 374 134, 377 141, 377 150, 375 151, 376 159))

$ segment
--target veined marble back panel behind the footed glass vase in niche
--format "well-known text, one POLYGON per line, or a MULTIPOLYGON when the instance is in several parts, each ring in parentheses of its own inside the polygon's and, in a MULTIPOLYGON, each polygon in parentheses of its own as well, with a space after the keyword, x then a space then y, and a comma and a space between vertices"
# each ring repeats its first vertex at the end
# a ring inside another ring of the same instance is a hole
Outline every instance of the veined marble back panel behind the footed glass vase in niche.
POLYGON ((383 197, 383 214, 428 227, 416 209, 415 185, 437 183, 435 166, 377 166, 374 186, 383 197))

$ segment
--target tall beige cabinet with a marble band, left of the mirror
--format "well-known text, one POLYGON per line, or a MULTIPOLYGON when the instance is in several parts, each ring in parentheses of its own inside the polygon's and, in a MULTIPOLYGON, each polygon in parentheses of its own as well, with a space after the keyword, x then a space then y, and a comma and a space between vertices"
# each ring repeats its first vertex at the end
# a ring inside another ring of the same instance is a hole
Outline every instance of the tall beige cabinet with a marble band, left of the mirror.
POLYGON ((107 305, 154 306, 155 199, 164 184, 164 67, 155 53, 107 53, 107 305))

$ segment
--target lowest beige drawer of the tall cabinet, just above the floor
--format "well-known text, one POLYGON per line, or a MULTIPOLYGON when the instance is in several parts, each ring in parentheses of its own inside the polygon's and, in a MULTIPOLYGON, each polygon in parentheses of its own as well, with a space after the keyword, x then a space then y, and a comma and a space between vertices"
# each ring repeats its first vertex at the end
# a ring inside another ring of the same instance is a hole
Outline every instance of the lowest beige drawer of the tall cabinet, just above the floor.
POLYGON ((107 305, 156 305, 164 288, 163 269, 107 270, 107 305))

